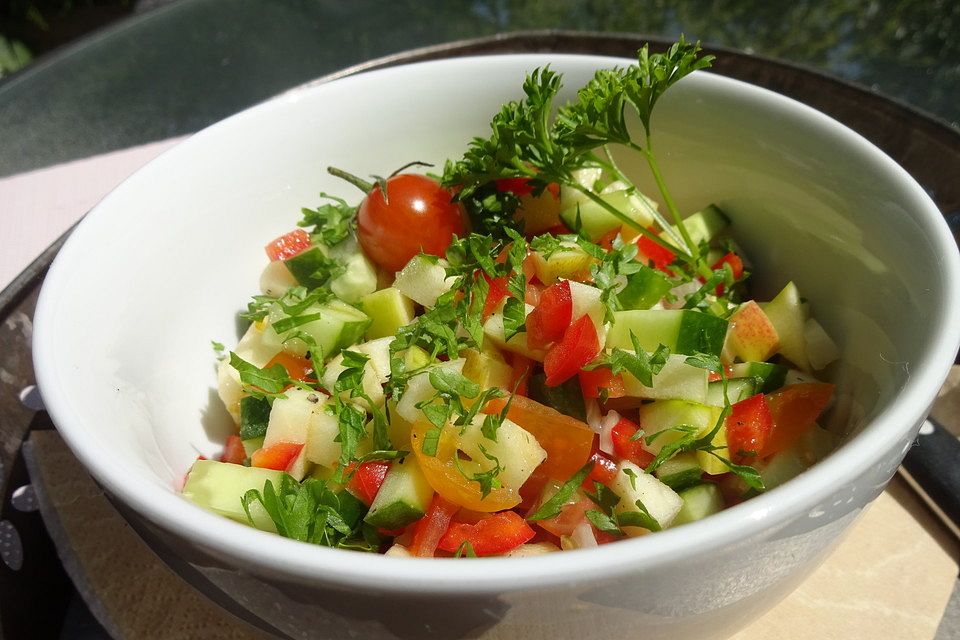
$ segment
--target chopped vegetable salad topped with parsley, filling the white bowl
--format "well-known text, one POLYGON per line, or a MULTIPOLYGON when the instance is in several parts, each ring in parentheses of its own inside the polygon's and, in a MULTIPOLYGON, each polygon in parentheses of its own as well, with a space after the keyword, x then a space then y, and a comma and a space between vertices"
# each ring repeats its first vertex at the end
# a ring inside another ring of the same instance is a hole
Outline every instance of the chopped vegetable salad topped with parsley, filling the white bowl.
POLYGON ((331 168, 362 200, 321 194, 266 245, 249 327, 214 344, 236 432, 183 495, 324 546, 538 555, 700 520, 826 456, 839 349, 789 274, 754 299, 728 216, 680 211, 659 169, 654 106, 710 60, 644 48, 563 105, 539 68, 438 174, 331 168))

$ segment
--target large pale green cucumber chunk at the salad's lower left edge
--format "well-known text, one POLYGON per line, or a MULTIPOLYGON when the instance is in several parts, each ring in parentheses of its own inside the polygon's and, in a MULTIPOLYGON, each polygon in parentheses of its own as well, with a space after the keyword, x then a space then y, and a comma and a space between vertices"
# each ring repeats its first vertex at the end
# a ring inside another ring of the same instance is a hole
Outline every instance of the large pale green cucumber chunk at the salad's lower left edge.
MULTIPOLYGON (((241 503, 243 495, 250 489, 263 491, 268 480, 275 488, 279 487, 282 477, 282 471, 273 469, 244 467, 216 460, 197 460, 187 475, 182 493, 184 498, 208 511, 250 524, 241 503)), ((254 501, 250 505, 250 515, 257 529, 276 532, 273 520, 259 502, 254 501)))

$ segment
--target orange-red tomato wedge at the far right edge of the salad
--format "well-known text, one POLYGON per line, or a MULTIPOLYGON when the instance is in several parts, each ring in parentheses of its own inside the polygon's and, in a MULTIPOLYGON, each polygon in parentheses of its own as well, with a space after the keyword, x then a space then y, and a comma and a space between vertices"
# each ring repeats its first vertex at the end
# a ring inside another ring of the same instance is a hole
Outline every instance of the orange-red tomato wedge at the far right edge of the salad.
POLYGON ((760 457, 788 449, 799 440, 826 408, 832 395, 833 385, 826 382, 791 384, 767 394, 773 429, 760 457))

